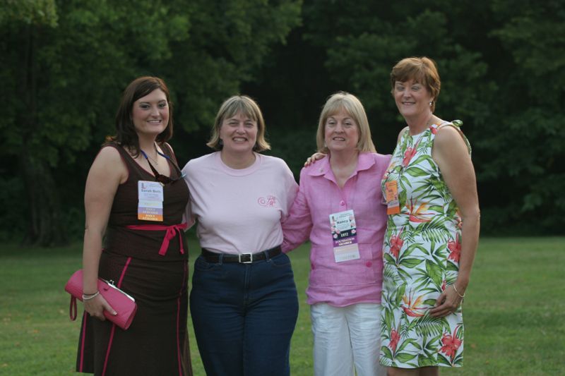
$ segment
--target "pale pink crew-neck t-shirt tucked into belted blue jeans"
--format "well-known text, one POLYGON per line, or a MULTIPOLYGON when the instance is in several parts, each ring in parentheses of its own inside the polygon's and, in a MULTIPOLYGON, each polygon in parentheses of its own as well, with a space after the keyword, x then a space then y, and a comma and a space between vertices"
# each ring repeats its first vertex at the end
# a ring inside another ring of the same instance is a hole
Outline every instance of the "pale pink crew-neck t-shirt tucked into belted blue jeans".
POLYGON ((255 154, 246 169, 231 169, 220 152, 192 159, 182 171, 190 190, 189 225, 202 248, 218 253, 257 253, 283 243, 281 219, 298 185, 283 159, 255 154))

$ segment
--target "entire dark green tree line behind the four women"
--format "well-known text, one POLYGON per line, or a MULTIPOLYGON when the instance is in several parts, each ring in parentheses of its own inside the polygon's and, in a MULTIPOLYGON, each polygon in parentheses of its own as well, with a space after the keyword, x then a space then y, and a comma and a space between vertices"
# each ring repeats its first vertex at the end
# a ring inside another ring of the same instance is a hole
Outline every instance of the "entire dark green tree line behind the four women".
POLYGON ((126 85, 164 78, 182 165, 224 99, 251 95, 295 176, 333 92, 362 100, 377 150, 404 126, 389 73, 429 56, 436 114, 463 120, 482 234, 565 226, 565 1, 0 0, 0 241, 83 234, 83 190, 126 85))

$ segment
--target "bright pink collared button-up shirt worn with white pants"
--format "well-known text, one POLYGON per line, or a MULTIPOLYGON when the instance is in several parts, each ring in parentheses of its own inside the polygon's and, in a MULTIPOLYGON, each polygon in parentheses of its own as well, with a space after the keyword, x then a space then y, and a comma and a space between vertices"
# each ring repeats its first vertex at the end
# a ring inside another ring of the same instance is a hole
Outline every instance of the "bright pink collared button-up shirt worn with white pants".
POLYGON ((283 251, 311 241, 309 304, 381 303, 387 219, 381 179, 390 159, 390 155, 360 153, 357 169, 343 188, 335 181, 328 157, 302 169, 299 193, 283 222, 283 251), (335 262, 330 214, 345 210, 355 215, 360 258, 335 262))

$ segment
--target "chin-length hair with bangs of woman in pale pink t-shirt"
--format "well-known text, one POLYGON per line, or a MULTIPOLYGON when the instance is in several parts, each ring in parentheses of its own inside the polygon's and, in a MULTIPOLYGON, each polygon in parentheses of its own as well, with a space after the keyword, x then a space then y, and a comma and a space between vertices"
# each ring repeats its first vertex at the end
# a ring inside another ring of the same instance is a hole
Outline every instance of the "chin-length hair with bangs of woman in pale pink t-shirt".
POLYGON ((234 95, 225 100, 216 115, 214 125, 212 127, 212 135, 206 145, 214 150, 222 150, 223 145, 220 143, 220 128, 225 119, 242 114, 257 123, 257 140, 253 150, 263 152, 270 150, 269 143, 265 140, 265 121, 258 104, 246 95, 234 95))

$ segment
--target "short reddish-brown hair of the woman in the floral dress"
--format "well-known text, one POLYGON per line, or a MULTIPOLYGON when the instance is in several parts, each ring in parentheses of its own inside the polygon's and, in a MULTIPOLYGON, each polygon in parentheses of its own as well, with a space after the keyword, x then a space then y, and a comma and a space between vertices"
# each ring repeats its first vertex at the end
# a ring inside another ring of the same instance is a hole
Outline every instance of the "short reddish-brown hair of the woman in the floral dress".
POLYGON ((441 89, 441 80, 437 71, 436 62, 429 57, 407 57, 396 63, 391 71, 391 93, 394 95, 396 81, 401 83, 415 80, 424 85, 432 95, 432 112, 436 109, 437 97, 441 89))

